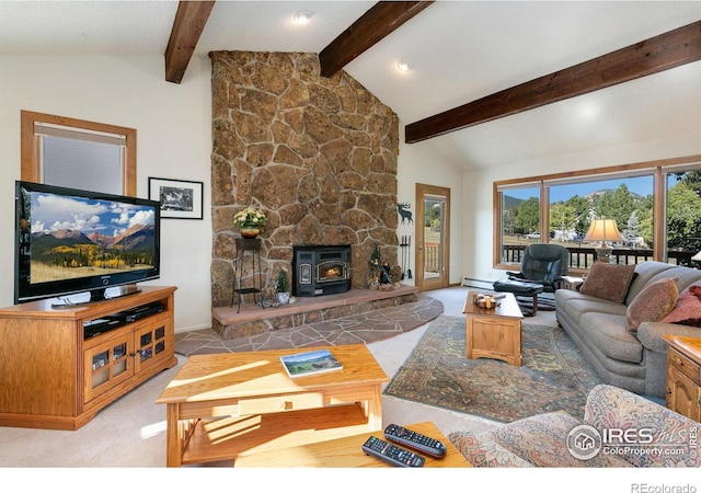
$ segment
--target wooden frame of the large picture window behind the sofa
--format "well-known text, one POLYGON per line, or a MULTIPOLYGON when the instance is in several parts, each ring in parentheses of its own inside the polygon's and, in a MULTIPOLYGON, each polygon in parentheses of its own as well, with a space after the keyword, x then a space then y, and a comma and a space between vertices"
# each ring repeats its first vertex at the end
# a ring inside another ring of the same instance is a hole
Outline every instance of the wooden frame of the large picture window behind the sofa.
MULTIPOLYGON (((665 262, 666 256, 666 175, 670 169, 683 169, 683 164, 698 164, 701 162, 701 154, 685 156, 655 161, 644 161, 631 164, 620 164, 591 170, 581 170, 564 173, 553 173, 547 175, 528 176, 512 180, 502 180, 493 183, 493 215, 494 231, 492 236, 492 265, 496 270, 514 270, 514 263, 502 262, 502 191, 515 186, 540 186, 540 237, 544 242, 550 241, 550 195, 549 184, 559 180, 606 180, 611 175, 624 173, 642 173, 648 171, 653 176, 653 257, 656 261, 665 262)), ((690 168, 690 170, 693 168, 690 168)))

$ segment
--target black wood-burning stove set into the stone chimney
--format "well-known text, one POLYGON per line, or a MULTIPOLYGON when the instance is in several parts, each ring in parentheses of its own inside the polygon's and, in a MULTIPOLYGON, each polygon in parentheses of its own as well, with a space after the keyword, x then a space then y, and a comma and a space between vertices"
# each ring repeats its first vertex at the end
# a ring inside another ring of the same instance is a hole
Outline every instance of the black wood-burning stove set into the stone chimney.
POLYGON ((295 296, 337 295, 350 289, 350 245, 295 246, 295 296))

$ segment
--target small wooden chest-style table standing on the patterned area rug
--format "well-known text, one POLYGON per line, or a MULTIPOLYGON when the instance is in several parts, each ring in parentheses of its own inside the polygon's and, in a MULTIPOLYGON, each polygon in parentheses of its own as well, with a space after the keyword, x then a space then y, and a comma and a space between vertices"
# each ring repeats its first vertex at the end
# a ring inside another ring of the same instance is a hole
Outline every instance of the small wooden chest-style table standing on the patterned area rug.
POLYGON ((480 291, 468 291, 464 303, 468 332, 468 359, 494 358, 521 366, 521 319, 524 314, 510 293, 499 299, 498 307, 480 308, 472 301, 480 291))

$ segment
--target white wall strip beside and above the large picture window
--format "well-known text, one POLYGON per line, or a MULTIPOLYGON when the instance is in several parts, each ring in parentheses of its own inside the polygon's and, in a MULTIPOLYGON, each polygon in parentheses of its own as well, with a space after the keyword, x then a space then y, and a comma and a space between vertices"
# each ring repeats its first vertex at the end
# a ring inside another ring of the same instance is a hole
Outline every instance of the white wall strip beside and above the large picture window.
POLYGON ((492 231, 494 229, 493 184, 505 179, 528 177, 567 171, 588 170, 618 164, 655 161, 701 154, 701 135, 668 140, 640 142, 560 158, 519 162, 510 165, 466 173, 463 208, 473 211, 474 227, 464 228, 464 276, 475 279, 505 278, 504 271, 493 270, 492 231))

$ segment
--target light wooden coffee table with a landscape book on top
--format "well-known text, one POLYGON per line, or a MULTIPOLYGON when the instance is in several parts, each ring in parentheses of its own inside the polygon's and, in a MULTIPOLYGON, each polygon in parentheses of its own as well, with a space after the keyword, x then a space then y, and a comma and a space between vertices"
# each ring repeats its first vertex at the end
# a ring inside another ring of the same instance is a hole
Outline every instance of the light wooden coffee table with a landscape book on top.
POLYGON ((279 357, 311 349, 191 356, 156 401, 166 405, 166 465, 381 429, 389 378, 365 344, 327 347, 341 370, 289 378, 279 357))

